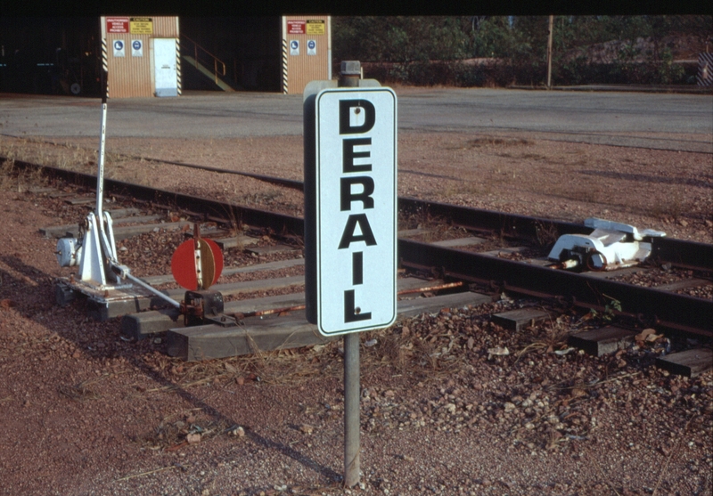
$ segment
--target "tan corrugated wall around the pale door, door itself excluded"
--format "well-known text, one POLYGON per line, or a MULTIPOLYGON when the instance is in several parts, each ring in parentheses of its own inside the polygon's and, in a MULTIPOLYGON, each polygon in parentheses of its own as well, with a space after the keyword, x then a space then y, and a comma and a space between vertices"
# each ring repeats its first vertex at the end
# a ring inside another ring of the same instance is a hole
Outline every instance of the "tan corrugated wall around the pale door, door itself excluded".
MULTIPOLYGON (((102 16, 102 44, 105 42, 104 66, 108 70, 108 96, 126 98, 153 96, 153 39, 176 39, 176 68, 178 73, 178 94, 180 94, 180 57, 178 52, 178 18, 173 16, 133 17, 102 16), (132 21, 134 20, 134 21, 132 21), (113 32, 112 32, 113 31, 113 32), (115 42, 122 42, 124 56, 115 55, 115 42), (142 44, 142 56, 135 56, 132 44, 142 44)), ((103 45, 102 45, 103 46, 103 45)))

